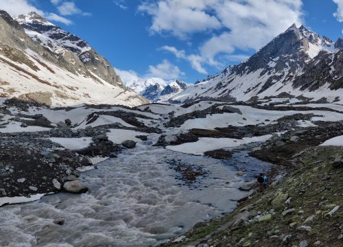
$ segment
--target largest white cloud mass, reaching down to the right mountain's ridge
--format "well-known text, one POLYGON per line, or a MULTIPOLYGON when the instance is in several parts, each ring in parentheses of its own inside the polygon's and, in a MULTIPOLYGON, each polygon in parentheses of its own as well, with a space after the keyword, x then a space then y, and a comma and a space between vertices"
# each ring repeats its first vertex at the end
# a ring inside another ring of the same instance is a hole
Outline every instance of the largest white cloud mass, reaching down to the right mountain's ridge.
POLYGON ((183 39, 205 32, 209 38, 196 54, 164 49, 177 58, 189 60, 200 73, 206 73, 203 64, 222 66, 218 55, 227 59, 231 55, 237 60, 237 50, 258 50, 293 23, 300 25, 302 6, 302 0, 158 0, 141 4, 139 11, 152 16, 153 33, 167 32, 183 39))

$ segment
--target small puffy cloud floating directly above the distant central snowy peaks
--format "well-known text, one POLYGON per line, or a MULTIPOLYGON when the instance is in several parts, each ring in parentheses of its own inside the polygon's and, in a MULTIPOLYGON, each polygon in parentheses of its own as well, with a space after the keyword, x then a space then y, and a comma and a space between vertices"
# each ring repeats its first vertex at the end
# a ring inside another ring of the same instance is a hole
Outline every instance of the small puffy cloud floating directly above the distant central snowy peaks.
POLYGON ((147 73, 149 77, 163 78, 165 80, 179 78, 181 75, 185 75, 185 73, 180 71, 176 65, 171 64, 167 59, 156 66, 150 65, 147 73))

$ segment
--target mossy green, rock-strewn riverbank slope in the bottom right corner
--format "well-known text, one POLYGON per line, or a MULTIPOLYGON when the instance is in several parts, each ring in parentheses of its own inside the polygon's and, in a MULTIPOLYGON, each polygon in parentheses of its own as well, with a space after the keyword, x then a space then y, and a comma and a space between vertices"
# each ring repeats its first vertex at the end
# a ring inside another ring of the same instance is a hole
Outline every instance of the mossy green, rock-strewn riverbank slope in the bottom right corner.
POLYGON ((342 158, 342 147, 306 148, 268 189, 163 246, 342 246, 342 158))

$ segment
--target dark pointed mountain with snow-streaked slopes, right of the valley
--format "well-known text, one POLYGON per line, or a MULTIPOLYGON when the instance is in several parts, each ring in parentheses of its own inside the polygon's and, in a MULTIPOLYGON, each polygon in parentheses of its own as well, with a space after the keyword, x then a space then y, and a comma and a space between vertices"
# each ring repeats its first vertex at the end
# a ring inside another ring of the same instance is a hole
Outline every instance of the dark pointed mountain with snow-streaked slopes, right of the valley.
POLYGON ((292 25, 246 62, 190 85, 170 101, 247 101, 287 93, 343 102, 342 41, 292 25))

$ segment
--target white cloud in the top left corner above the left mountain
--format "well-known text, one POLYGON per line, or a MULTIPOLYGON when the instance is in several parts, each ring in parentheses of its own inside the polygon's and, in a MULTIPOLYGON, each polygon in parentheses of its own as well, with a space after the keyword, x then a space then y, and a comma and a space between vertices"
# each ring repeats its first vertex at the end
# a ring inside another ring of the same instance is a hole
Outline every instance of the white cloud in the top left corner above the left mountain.
POLYGON ((36 12, 43 15, 43 12, 31 5, 27 0, 0 0, 0 9, 5 10, 12 18, 19 14, 36 12))

